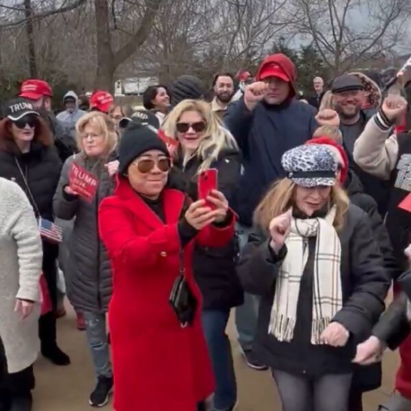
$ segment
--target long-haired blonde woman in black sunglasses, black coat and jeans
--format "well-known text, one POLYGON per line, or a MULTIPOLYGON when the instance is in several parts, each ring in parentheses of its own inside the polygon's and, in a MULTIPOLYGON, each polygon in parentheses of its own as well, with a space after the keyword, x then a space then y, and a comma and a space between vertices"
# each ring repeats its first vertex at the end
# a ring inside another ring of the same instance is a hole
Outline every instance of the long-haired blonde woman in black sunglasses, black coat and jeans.
MULTIPOLYGON (((219 190, 231 203, 240 179, 240 153, 234 138, 221 127, 204 101, 185 100, 175 106, 164 132, 179 141, 175 166, 182 171, 186 191, 197 199, 202 171, 217 169, 219 190)), ((214 409, 230 411, 237 400, 231 345, 225 334, 229 312, 240 306, 243 292, 236 275, 238 244, 233 236, 225 247, 196 244, 195 279, 203 295, 203 329, 216 378, 214 409)))

